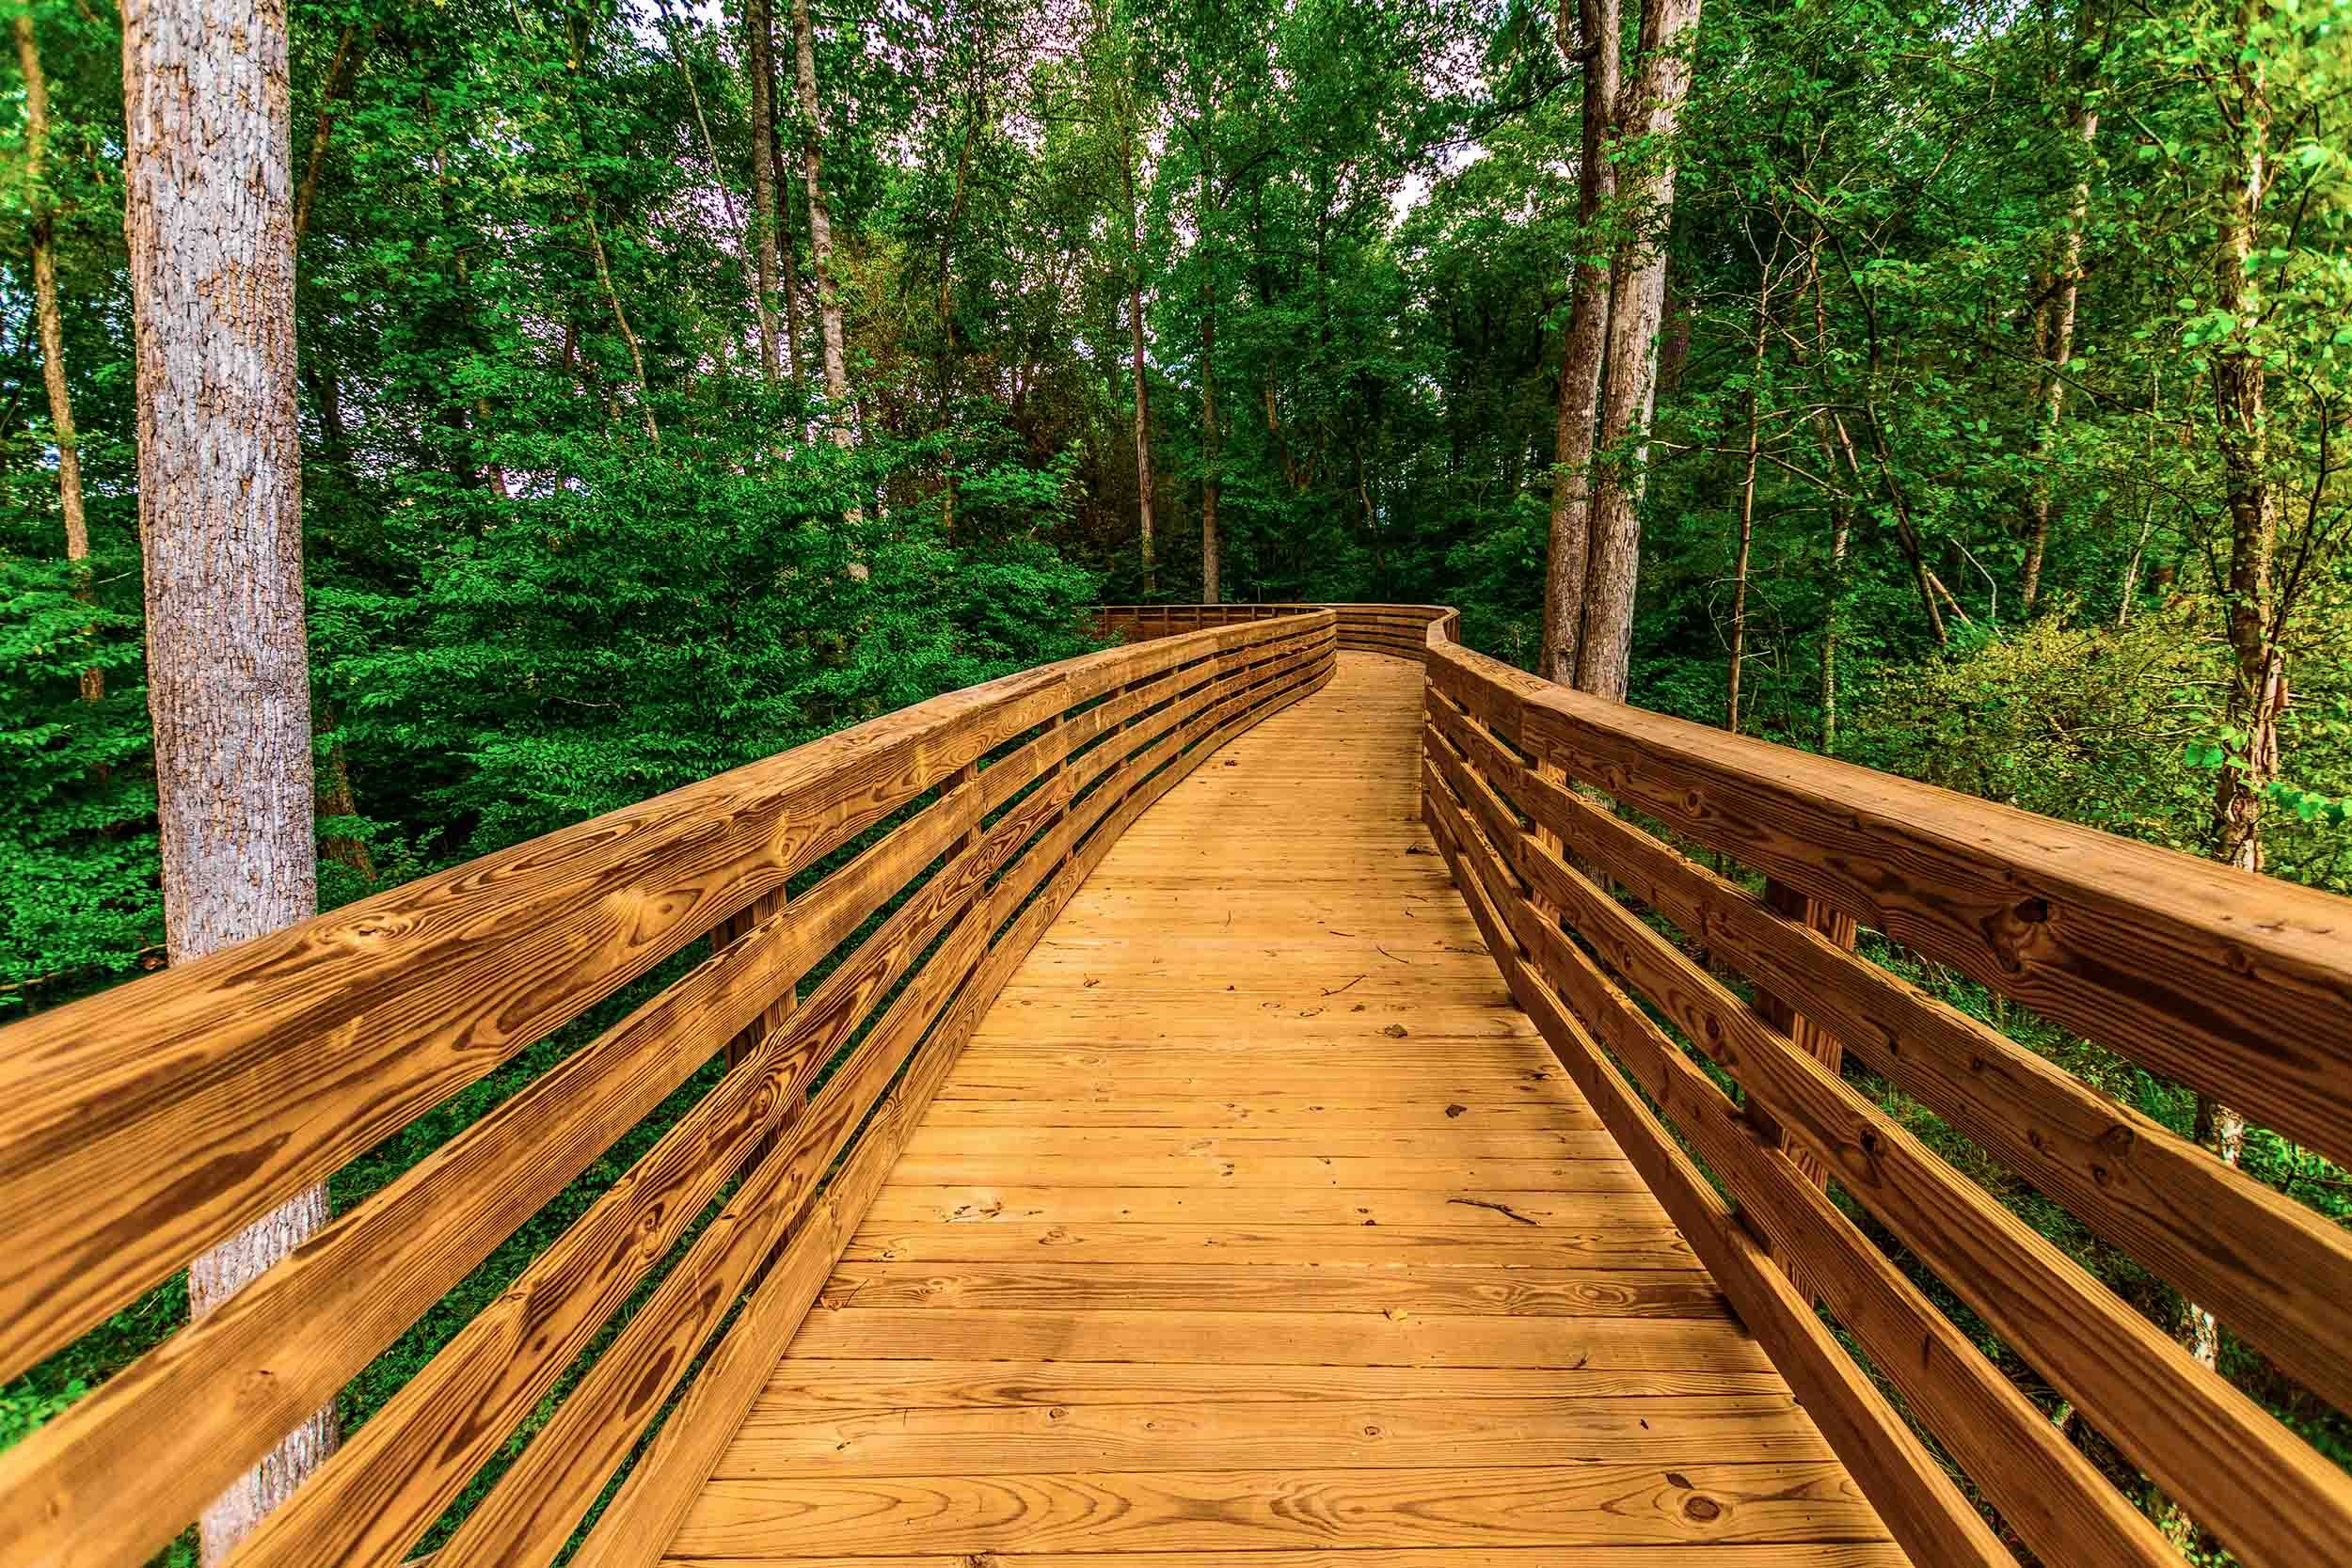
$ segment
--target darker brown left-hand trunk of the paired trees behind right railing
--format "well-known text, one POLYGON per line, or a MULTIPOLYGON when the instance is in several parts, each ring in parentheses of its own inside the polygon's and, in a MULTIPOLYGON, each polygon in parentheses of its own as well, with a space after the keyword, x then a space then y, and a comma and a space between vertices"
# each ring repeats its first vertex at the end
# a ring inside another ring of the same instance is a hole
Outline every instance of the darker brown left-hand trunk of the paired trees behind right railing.
MULTIPOLYGON (((1602 339, 1609 327, 1609 268, 1592 252, 1602 209, 1616 190, 1609 122, 1618 99, 1618 0, 1576 0, 1576 63, 1585 73, 1583 148, 1576 165, 1578 259, 1569 324, 1559 341, 1559 409, 1552 430, 1552 534, 1543 552, 1543 649, 1538 672, 1576 684, 1585 625, 1585 564, 1592 548, 1592 435, 1602 395, 1602 339)), ((1559 5, 1569 40, 1569 5, 1559 5)))

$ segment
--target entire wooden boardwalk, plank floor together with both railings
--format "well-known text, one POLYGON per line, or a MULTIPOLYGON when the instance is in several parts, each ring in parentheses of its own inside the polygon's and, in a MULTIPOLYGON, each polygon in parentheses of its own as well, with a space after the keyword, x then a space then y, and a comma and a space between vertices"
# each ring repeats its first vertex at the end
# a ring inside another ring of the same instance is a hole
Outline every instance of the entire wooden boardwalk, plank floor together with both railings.
POLYGON ((2343 1227, 1858 945, 2352 1159, 2352 905, 1454 628, 1108 607, 0 1032, 0 1378, 567 1044, 0 1453, 0 1561, 148 1561, 492 1260, 240 1568, 2178 1563, 2060 1403, 2343 1563, 2352 1479, 1856 1074, 2352 1408, 2343 1227))

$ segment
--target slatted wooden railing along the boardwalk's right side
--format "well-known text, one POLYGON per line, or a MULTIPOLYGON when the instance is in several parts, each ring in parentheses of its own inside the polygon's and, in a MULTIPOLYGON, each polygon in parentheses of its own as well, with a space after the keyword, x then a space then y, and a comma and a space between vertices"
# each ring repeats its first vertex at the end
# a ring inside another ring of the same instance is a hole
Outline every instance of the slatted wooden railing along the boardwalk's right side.
POLYGON ((1983 1500, 2049 1568, 2180 1566, 1985 1331, 2239 1563, 2352 1561, 2338 1465, 1839 1072, 2352 1410, 2352 1232, 1856 954, 1884 933, 2352 1164, 2352 903, 1564 691, 1439 628, 1425 668, 1423 809, 1512 994, 1917 1563, 2013 1563, 1983 1500))

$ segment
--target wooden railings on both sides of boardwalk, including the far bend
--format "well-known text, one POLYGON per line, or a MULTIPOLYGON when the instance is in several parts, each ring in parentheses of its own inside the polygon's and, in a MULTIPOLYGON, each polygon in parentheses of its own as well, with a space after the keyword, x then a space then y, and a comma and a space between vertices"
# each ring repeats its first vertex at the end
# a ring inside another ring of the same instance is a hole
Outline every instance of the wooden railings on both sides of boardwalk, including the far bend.
POLYGON ((435 1568, 548 1563, 635 1455, 574 1561, 652 1563, 1047 922, 1338 649, 1423 665, 1423 811, 1512 994, 1915 1561, 2180 1561, 1987 1335, 2237 1561, 2352 1559, 2343 1469, 1842 1072, 1851 1053, 2352 1408, 2345 1227, 1858 952, 1867 929, 2352 1164, 2352 905, 1564 691, 1456 646, 1444 607, 1112 607, 1101 628, 1129 646, 0 1032, 12 1378, 635 1001, 0 1453, 0 1563, 146 1561, 701 1086, 235 1559, 393 1563, 470 1488, 435 1568), (656 973, 703 936, 708 959, 656 973))

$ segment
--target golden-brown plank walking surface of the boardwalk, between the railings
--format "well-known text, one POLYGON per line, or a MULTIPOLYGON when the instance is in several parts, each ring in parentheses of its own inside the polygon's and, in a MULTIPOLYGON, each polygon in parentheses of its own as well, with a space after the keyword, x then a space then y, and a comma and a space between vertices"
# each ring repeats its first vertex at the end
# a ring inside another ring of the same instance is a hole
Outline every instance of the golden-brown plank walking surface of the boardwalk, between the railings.
POLYGON ((673 1559, 1903 1563, 1510 1004, 1418 686, 1341 654, 1110 851, 673 1559))

